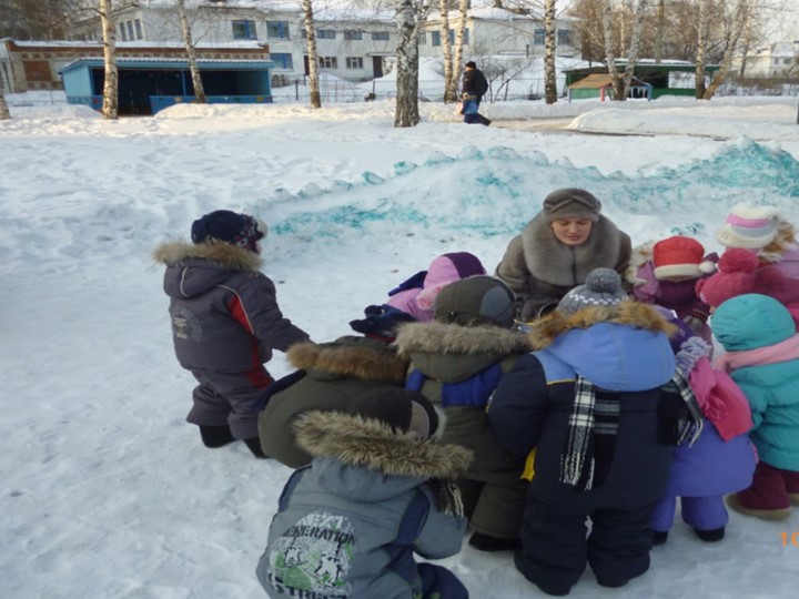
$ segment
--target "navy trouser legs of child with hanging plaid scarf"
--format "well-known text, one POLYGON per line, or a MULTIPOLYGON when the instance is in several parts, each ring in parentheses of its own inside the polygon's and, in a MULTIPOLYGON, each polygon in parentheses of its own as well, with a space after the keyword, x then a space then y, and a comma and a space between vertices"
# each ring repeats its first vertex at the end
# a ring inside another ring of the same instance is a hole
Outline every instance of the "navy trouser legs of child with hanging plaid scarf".
POLYGON ((621 586, 649 569, 654 508, 575 509, 528 496, 517 568, 553 595, 568 592, 586 564, 599 583, 621 586), (586 538, 588 518, 591 531, 586 538))

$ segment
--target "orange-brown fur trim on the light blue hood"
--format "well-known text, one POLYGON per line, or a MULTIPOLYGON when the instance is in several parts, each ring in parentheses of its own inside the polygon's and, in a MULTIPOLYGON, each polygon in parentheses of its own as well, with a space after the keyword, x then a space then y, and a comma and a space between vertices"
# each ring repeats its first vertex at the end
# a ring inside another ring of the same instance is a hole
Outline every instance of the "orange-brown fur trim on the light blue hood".
POLYGON ((669 323, 655 307, 626 300, 613 306, 583 308, 570 315, 562 314, 556 309, 529 324, 529 343, 534 349, 544 349, 567 331, 588 328, 599 323, 629 325, 665 333, 666 336, 677 333, 677 326, 669 323))

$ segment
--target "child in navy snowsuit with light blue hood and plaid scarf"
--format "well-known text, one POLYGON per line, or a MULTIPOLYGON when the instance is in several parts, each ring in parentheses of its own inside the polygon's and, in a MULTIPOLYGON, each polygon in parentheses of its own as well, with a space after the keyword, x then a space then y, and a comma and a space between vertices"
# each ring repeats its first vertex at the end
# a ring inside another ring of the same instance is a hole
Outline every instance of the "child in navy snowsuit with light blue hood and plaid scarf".
POLYGON ((587 564, 605 587, 649 569, 649 522, 680 440, 672 432, 695 438, 698 427, 661 416, 695 402, 674 378, 671 333, 654 306, 627 300, 618 273, 597 268, 530 325, 538 351, 494 394, 497 438, 520 456, 535 448, 515 564, 544 592, 568 593, 587 564))

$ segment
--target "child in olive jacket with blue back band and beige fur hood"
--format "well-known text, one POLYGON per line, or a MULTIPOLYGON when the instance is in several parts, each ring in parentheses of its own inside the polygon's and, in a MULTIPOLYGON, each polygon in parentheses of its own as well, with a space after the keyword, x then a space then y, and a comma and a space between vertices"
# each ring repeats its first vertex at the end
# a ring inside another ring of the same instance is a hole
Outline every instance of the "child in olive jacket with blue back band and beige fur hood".
POLYGON ((458 486, 474 530, 469 545, 484 551, 518 546, 524 510, 524 459, 498 443, 485 414, 503 373, 529 351, 527 337, 510 328, 513 315, 510 290, 473 276, 444 287, 435 321, 403 325, 395 343, 411 359, 406 388, 447 415, 444 440, 475 453, 458 486))

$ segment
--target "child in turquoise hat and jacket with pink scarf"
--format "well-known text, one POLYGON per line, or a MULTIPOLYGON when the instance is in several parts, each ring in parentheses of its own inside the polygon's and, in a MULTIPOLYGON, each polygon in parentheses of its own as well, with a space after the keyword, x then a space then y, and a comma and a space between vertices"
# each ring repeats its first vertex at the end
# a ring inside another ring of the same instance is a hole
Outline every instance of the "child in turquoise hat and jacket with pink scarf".
POLYGON ((715 366, 730 374, 752 410, 750 438, 760 461, 748 489, 727 497, 747 516, 783 520, 799 505, 799 334, 788 308, 773 297, 745 294, 712 316, 727 351, 715 366))

